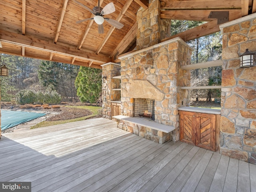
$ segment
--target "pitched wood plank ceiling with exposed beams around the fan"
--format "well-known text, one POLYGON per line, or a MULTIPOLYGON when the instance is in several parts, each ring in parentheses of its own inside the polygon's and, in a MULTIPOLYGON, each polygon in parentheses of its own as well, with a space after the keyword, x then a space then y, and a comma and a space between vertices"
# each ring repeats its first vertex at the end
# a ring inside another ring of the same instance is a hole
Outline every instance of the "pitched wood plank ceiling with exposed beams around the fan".
MULTIPOLYGON (((92 9, 98 0, 77 0, 92 9)), ((148 0, 100 0, 103 8, 113 2, 116 11, 106 15, 124 24, 122 29, 104 22, 98 34, 88 10, 74 0, 0 0, 0 53, 101 68, 118 62, 116 56, 136 46, 136 12, 146 9, 148 0)), ((229 21, 256 12, 256 0, 161 0, 161 19, 207 21, 180 36, 191 40, 218 32, 211 11, 228 11, 229 21)), ((161 42, 170 38, 162 39, 161 42)))

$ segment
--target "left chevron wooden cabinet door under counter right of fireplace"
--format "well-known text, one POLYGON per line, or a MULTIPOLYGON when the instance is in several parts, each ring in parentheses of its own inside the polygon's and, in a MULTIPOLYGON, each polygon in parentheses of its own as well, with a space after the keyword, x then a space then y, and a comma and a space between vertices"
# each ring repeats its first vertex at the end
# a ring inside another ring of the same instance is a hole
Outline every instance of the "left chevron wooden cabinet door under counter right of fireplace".
POLYGON ((196 145, 196 112, 180 111, 179 113, 180 140, 192 145, 196 145))

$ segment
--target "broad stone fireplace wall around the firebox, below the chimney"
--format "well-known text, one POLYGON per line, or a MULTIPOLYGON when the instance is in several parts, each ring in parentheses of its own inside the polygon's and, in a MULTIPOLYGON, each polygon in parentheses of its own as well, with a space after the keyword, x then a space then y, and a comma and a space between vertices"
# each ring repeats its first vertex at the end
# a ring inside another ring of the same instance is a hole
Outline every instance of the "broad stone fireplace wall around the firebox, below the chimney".
POLYGON ((174 126, 179 140, 178 107, 188 106, 190 73, 180 66, 190 64, 191 48, 175 38, 119 57, 121 61, 121 115, 134 117, 134 98, 155 100, 155 122, 174 126))

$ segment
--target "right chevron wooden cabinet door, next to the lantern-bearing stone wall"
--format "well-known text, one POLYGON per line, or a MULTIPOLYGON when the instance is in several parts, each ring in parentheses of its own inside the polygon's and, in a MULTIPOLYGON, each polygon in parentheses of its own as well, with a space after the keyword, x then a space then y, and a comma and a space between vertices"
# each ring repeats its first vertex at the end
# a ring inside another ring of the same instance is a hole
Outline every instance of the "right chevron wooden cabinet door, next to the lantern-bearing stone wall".
POLYGON ((215 151, 216 115, 196 113, 196 146, 215 151))

